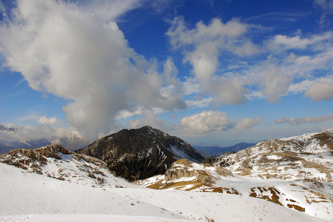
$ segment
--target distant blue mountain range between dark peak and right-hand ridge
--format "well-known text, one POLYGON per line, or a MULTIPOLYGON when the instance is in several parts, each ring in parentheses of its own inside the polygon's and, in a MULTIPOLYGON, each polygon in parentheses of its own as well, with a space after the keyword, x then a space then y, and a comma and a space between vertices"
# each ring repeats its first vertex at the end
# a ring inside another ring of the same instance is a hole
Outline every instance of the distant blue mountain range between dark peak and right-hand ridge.
POLYGON ((227 152, 237 152, 246 148, 255 146, 254 143, 238 143, 234 146, 219 147, 219 146, 193 146, 198 152, 202 153, 206 158, 211 156, 220 156, 227 152))

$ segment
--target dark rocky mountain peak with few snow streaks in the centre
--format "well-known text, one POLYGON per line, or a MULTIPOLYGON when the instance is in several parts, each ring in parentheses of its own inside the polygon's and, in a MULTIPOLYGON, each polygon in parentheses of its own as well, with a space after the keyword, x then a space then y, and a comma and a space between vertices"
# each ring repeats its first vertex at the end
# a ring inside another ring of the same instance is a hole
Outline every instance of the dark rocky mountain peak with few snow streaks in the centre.
POLYGON ((150 126, 123 129, 76 152, 105 161, 117 175, 130 181, 164 174, 179 159, 197 163, 204 159, 185 141, 150 126))

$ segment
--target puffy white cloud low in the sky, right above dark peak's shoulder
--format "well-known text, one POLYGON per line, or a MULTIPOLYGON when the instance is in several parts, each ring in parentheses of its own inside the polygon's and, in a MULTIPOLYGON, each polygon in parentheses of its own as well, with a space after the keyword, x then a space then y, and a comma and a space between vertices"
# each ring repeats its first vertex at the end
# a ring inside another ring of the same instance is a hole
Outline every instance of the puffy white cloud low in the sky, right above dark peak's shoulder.
POLYGON ((227 113, 212 110, 183 117, 179 124, 188 133, 228 130, 234 126, 234 122, 227 117, 227 113))

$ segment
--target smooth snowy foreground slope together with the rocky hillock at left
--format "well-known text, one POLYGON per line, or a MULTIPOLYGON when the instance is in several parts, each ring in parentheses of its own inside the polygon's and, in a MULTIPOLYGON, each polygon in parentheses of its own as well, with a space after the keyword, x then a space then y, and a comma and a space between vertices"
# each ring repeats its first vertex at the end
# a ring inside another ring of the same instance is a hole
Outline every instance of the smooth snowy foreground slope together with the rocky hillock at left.
POLYGON ((0 162, 3 222, 322 221, 246 195, 140 187, 59 145, 13 150, 0 162))

